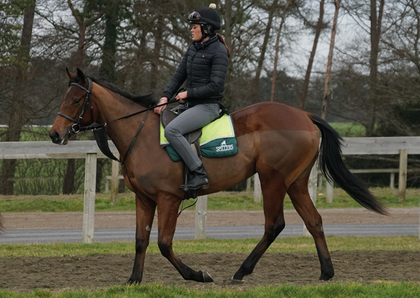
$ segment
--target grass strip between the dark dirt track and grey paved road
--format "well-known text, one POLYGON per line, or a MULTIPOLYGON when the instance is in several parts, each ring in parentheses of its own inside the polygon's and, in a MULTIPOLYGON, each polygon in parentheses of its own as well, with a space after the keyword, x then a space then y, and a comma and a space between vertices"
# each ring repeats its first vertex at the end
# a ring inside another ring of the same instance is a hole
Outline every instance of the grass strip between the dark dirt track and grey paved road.
MULTIPOLYGON (((174 251, 177 254, 203 252, 250 253, 260 239, 232 240, 177 240, 174 251)), ((326 237, 330 251, 350 250, 412 250, 420 251, 416 236, 402 237, 326 237)), ((157 242, 151 242, 147 252, 160 254, 157 242)), ((267 252, 316 252, 314 240, 307 237, 278 238, 267 252)), ((134 242, 52 243, 52 244, 3 244, 0 245, 0 259, 14 257, 75 257, 101 254, 133 254, 134 242)))

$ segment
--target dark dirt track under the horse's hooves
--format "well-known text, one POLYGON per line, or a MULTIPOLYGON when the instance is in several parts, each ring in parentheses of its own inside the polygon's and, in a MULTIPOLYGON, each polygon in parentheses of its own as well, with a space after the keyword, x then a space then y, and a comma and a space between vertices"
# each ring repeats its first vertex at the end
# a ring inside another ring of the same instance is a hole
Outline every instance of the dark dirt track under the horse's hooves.
MULTIPOLYGON (((243 285, 230 285, 229 279, 247 254, 183 254, 179 256, 195 270, 206 270, 214 283, 182 279, 160 254, 148 254, 143 284, 184 285, 195 289, 248 288, 262 285, 322 284, 316 253, 266 253, 243 285)), ((331 282, 375 283, 378 280, 420 282, 419 252, 331 252, 336 276, 331 282)), ((49 290, 94 290, 122 285, 132 271, 134 254, 66 258, 1 259, 0 290, 28 292, 49 290), (20 282, 19 282, 20 280, 20 282)))

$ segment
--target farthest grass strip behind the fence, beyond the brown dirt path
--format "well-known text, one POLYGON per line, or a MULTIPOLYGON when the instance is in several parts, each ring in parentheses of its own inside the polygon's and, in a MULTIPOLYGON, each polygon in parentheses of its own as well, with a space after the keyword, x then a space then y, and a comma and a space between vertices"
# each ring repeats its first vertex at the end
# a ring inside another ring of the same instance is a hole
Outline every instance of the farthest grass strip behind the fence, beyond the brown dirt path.
MULTIPOLYGON (((372 193, 386 207, 419 207, 419 190, 407 190, 405 202, 398 201, 398 190, 390 188, 372 188, 372 193)), ((184 207, 194 200, 184 202, 184 207)), ((317 195, 318 209, 362 208, 343 190, 334 190, 332 203, 325 200, 325 189, 317 195)), ((96 195, 96 212, 135 211, 134 194, 120 194, 117 205, 110 205, 110 195, 96 195)), ((190 208, 195 209, 195 206, 190 208)), ((284 209, 294 209, 288 196, 284 200, 284 209)), ((208 196, 208 210, 262 210, 262 203, 256 204, 253 193, 215 193, 208 196)), ((0 212, 83 212, 82 195, 38 195, 0 197, 0 212)))

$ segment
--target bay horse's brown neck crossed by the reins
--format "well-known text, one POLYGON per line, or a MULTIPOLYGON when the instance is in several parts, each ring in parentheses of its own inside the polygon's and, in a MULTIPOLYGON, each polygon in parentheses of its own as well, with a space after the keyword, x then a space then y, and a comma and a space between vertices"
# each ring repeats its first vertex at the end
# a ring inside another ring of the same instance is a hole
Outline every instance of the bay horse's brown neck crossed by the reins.
MULTIPOLYGON (((124 98, 123 96, 113 93, 112 91, 103 89, 100 86, 97 89, 95 95, 97 98, 96 103, 98 105, 98 122, 106 122, 108 136, 117 147, 120 155, 125 155, 132 143, 132 140, 134 139, 134 136, 136 135, 136 132, 139 130, 141 122, 144 120, 146 112, 135 115, 133 117, 129 117, 127 119, 120 119, 116 121, 113 120, 130 115, 140 110, 144 110, 145 108, 137 103, 134 103, 133 101, 130 101, 127 98, 124 98)), ((146 119, 144 127, 141 129, 139 138, 141 138, 142 141, 146 141, 146 139, 149 138, 151 134, 158 134, 157 128, 154 129, 154 127, 158 127, 158 125, 155 123, 157 122, 156 119, 158 117, 153 114, 153 110, 151 110, 146 119), (153 133, 151 133, 152 130, 153 133), (146 131, 148 133, 146 133, 146 131)), ((143 148, 146 150, 146 146, 143 148)))

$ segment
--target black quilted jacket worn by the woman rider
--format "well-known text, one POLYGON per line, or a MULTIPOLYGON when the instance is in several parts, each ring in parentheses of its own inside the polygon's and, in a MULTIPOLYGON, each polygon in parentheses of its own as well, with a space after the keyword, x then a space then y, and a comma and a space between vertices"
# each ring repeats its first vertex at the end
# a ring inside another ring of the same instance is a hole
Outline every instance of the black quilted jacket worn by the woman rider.
POLYGON ((187 102, 196 105, 222 100, 229 62, 227 49, 217 37, 199 45, 193 42, 186 50, 163 96, 172 98, 186 80, 187 102))

